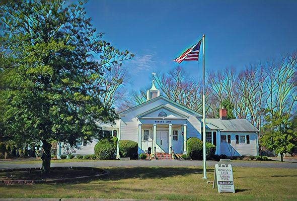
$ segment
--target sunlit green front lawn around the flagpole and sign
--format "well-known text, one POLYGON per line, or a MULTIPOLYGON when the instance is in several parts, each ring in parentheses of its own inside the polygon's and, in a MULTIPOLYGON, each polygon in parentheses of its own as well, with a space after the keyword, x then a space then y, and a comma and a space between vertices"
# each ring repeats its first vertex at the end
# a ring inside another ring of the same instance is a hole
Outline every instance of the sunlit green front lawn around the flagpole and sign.
MULTIPOLYGON (((199 200, 297 200, 297 172, 284 168, 234 167, 236 193, 217 193, 201 179, 201 167, 110 167, 100 180, 0 186, 0 197, 76 197, 199 200)), ((208 180, 213 169, 208 169, 208 180)))

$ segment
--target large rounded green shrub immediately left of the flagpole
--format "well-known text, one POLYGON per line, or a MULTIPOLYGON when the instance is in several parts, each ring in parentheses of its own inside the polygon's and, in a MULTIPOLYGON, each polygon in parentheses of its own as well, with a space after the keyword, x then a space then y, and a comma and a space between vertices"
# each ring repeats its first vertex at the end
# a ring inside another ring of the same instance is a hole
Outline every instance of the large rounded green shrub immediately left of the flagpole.
POLYGON ((201 140, 195 137, 191 137, 187 140, 187 153, 193 160, 202 159, 203 143, 201 140))

